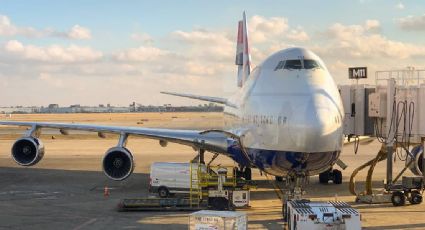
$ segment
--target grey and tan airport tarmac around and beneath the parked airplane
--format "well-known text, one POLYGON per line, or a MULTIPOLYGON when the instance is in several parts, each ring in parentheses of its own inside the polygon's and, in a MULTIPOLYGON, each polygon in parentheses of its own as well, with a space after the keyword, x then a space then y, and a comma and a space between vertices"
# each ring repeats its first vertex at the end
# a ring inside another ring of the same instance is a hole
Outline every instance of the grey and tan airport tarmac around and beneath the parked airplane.
MULTIPOLYGON (((170 116, 169 114, 157 116, 159 120, 155 120, 157 125, 153 126, 158 127, 197 128, 190 126, 197 124, 198 127, 202 126, 200 128, 209 128, 208 124, 214 119, 220 123, 220 116, 217 114, 191 114, 190 118, 178 121, 163 118, 170 116), (161 119, 167 120, 163 126, 161 119), (194 122, 204 119, 210 120, 205 124, 194 122)), ((184 114, 177 116, 184 117, 184 114)), ((78 119, 73 117, 69 121, 78 122, 78 119)), ((86 122, 96 123, 92 120, 86 122)), ((103 120, 100 122, 108 123, 103 120)), ((113 123, 119 125, 120 121, 113 123)), ((123 125, 131 125, 131 122, 123 125)), ((117 138, 109 136, 100 139, 96 135, 59 136, 48 133, 42 136, 46 146, 44 159, 34 167, 20 167, 10 157, 10 147, 18 136, 4 134, 7 130, 8 127, 2 128, 0 135, 0 229, 188 228, 190 212, 117 212, 116 207, 123 198, 149 195, 147 187, 152 162, 188 162, 196 155, 192 148, 172 143, 163 148, 158 141, 131 138, 127 147, 135 157, 135 172, 125 181, 114 182, 107 179, 101 171, 101 160, 104 152, 116 145, 117 138), (104 196, 105 186, 110 191, 107 197, 104 196)), ((348 192, 349 176, 356 167, 370 160, 379 147, 379 142, 374 141, 360 145, 359 152, 354 154, 353 145, 346 145, 341 159, 349 167, 343 171, 343 184, 321 185, 318 177, 313 176, 307 186, 306 198, 350 203, 360 211, 364 229, 425 229, 424 204, 393 207, 391 203, 354 203, 355 197, 348 192)), ((207 157, 211 157, 211 154, 207 154, 207 157)), ((218 157, 215 162, 233 165, 224 156, 218 157)), ((396 171, 402 166, 403 162, 397 161, 396 171)), ((359 191, 362 190, 364 176, 365 172, 362 172, 357 177, 359 191)), ((240 210, 248 213, 249 229, 282 229, 281 202, 271 184, 258 170, 253 171, 253 178, 257 181, 258 188, 251 191, 251 208, 240 210)), ((374 174, 374 187, 382 188, 384 178, 385 163, 380 163, 374 174)))

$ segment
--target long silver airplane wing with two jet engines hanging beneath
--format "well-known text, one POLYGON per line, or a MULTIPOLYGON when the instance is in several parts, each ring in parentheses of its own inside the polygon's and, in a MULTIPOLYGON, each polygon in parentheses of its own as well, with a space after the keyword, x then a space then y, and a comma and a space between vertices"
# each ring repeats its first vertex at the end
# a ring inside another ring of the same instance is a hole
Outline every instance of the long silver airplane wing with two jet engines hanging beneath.
POLYGON ((102 161, 103 172, 112 180, 124 180, 134 170, 133 155, 126 148, 128 136, 135 135, 156 139, 159 140, 161 146, 166 146, 168 142, 174 142, 192 146, 194 149, 225 154, 228 147, 227 142, 232 135, 221 130, 171 130, 48 122, 0 121, 0 125, 30 128, 12 146, 12 157, 21 166, 35 165, 43 158, 44 145, 38 139, 43 128, 58 129, 64 135, 69 134, 69 130, 97 132, 99 137, 104 137, 104 133, 118 134, 117 146, 110 148, 102 161))

